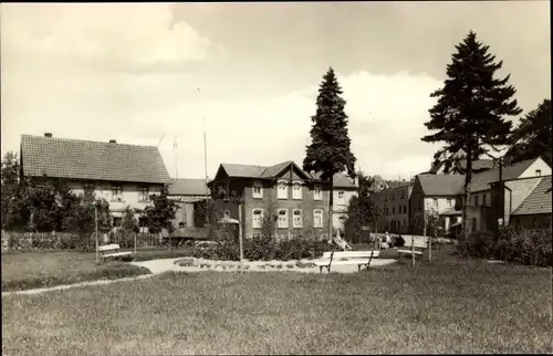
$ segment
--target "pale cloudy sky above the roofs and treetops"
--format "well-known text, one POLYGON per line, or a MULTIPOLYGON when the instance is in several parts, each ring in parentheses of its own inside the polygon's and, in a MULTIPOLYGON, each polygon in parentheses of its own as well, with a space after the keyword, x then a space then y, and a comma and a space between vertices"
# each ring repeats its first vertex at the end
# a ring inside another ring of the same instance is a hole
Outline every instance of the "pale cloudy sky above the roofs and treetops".
MULTIPOLYGON (((470 30, 524 113, 551 97, 549 1, 2 3, 1 151, 22 134, 159 145, 171 177, 300 166, 317 86, 344 91, 357 168, 428 170, 424 123, 470 30)), ((518 118, 514 119, 514 123, 518 118)))

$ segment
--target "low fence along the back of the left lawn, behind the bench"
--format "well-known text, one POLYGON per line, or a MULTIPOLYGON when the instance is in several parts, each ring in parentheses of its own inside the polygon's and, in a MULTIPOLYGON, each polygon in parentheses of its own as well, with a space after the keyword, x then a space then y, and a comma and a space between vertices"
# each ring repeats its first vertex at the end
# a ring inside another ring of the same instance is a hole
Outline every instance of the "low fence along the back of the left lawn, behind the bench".
MULTIPOLYGON (((118 243, 124 249, 166 248, 158 233, 109 233, 101 234, 98 243, 118 243), (136 239, 135 239, 136 238, 136 239)), ((92 252, 96 249, 94 233, 71 232, 9 232, 2 231, 2 252, 6 251, 45 251, 75 250, 92 252)))

